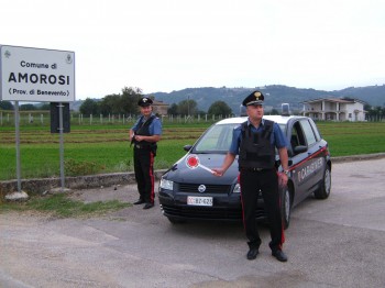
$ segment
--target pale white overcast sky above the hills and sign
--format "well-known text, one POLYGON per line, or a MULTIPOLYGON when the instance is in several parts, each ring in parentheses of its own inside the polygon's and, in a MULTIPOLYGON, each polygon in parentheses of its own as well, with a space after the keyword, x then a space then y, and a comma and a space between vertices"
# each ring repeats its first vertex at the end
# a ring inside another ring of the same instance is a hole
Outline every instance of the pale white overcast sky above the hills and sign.
POLYGON ((76 99, 385 84, 383 0, 1 1, 0 44, 75 52, 76 99))

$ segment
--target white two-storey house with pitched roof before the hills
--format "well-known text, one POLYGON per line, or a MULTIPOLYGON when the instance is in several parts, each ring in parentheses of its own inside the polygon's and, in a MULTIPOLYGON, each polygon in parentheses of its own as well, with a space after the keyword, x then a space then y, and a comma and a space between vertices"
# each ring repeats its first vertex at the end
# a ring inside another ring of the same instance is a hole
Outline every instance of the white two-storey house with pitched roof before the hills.
POLYGON ((302 114, 314 120, 365 121, 364 101, 323 98, 304 102, 302 114))

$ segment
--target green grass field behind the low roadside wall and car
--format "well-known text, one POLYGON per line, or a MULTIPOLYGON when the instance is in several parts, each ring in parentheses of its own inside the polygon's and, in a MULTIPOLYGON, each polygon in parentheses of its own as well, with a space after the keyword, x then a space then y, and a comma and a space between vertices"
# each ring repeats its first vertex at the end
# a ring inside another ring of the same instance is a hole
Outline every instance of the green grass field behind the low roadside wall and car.
MULTIPOLYGON (((155 169, 168 168, 210 125, 201 123, 165 123, 158 143, 155 169)), ((133 170, 129 128, 132 123, 112 125, 72 124, 64 135, 65 175, 87 175, 133 170)), ((319 122, 332 156, 385 152, 385 122, 319 122)), ((40 178, 59 175, 59 135, 47 125, 20 128, 21 177, 40 178)), ((0 180, 16 178, 15 133, 12 126, 0 126, 0 180)))

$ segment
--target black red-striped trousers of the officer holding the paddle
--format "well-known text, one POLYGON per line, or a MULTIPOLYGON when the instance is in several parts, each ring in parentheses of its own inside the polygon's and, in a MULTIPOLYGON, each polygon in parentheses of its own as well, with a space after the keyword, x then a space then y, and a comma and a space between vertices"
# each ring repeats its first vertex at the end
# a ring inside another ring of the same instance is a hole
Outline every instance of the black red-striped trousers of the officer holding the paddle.
POLYGON ((268 245, 273 252, 282 250, 285 236, 280 215, 280 197, 276 170, 264 169, 261 171, 252 171, 241 169, 240 185, 243 208, 243 225, 246 237, 249 239, 248 244, 250 248, 258 248, 262 243, 255 220, 257 197, 258 191, 261 190, 272 237, 268 245))

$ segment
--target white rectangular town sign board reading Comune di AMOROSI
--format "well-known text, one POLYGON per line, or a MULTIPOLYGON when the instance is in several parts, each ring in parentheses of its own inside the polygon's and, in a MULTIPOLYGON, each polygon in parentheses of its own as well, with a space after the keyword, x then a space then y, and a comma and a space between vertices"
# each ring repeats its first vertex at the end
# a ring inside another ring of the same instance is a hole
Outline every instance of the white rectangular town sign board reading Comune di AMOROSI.
POLYGON ((1 46, 1 100, 75 101, 75 53, 1 46))

